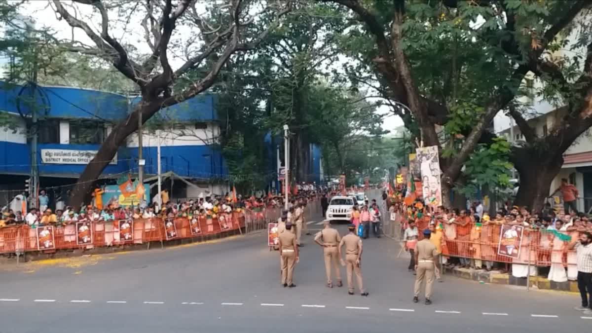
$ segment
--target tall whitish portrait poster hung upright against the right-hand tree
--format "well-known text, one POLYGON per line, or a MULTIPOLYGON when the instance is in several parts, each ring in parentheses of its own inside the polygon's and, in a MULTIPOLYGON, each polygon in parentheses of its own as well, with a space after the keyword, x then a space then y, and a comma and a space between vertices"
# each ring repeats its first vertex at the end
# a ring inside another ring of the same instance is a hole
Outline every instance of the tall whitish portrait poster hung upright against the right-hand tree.
POLYGON ((422 175, 422 197, 427 206, 442 205, 442 187, 440 186, 440 159, 438 147, 417 148, 417 165, 422 175))

